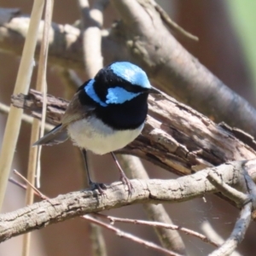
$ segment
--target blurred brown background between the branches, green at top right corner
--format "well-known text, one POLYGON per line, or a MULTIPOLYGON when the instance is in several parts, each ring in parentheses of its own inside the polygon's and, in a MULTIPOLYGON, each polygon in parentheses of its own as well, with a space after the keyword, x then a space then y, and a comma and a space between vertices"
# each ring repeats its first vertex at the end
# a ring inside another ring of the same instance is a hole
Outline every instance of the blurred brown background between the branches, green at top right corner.
MULTIPOLYGON (((172 20, 175 20, 187 31, 200 38, 199 43, 178 38, 190 53, 212 71, 225 84, 256 107, 256 2, 251 0, 161 0, 160 3, 172 20), (254 71, 254 72, 253 72, 254 71)), ((0 7, 19 8, 22 14, 29 15, 32 0, 0 0, 0 7)), ((55 1, 53 21, 60 24, 73 24, 79 20, 79 8, 76 1, 55 1)), ((108 28, 118 15, 109 5, 105 11, 104 24, 108 28)), ((0 102, 10 103, 15 78, 19 67, 19 56, 8 55, 0 51, 0 102)), ((105 63, 108 64, 108 63, 105 63)), ((34 69, 32 87, 35 85, 37 68, 34 69)), ((80 74, 85 80, 84 74, 80 74)), ((65 87, 61 83, 54 67, 48 68, 49 93, 54 96, 65 96, 65 87)), ((0 147, 7 116, 0 113, 0 147)), ((26 175, 30 143, 31 126, 22 124, 18 147, 15 152, 13 167, 26 175)), ((118 171, 111 158, 93 156, 91 163, 98 182, 110 183, 119 178, 118 171), (108 165, 106 165, 108 163, 108 165)), ((144 162, 150 177, 172 178, 172 173, 165 172, 144 162)), ((43 148, 42 154, 42 192, 49 197, 65 194, 83 188, 82 164, 79 150, 67 142, 55 147, 43 148)), ((13 174, 11 174, 13 176, 13 174)), ((201 224, 208 220, 220 236, 230 235, 237 214, 236 208, 228 206, 214 196, 207 196, 207 201, 195 199, 180 204, 166 205, 174 224, 201 231, 201 224)), ((4 212, 14 211, 25 205, 25 192, 9 183, 4 201, 4 212)), ((142 206, 131 206, 105 212, 109 215, 124 218, 146 219, 142 206)), ((150 228, 116 224, 121 229, 159 243, 154 231, 150 228)), ((256 251, 256 226, 252 224, 247 236, 239 246, 244 255, 254 255, 256 251)), ((137 243, 121 239, 108 230, 103 230, 108 247, 108 255, 129 256, 159 255, 137 243)), ((211 246, 190 236, 183 236, 189 255, 207 255, 211 246)), ((0 255, 20 255, 21 236, 0 244, 0 255)), ((32 233, 31 255, 69 256, 91 255, 90 229, 85 220, 76 218, 61 224, 34 231, 32 233)))

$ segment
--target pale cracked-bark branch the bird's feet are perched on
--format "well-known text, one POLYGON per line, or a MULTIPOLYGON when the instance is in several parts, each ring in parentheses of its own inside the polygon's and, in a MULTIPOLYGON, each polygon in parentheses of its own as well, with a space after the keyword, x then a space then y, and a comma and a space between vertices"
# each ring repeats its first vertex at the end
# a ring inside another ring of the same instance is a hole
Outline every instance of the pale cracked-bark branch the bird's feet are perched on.
MULTIPOLYGON (((209 172, 222 177, 224 183, 238 186, 243 181, 243 163, 230 162, 176 180, 131 180, 134 188, 132 195, 125 191, 125 186, 120 182, 112 183, 104 195, 97 195, 96 191, 91 190, 59 195, 55 199, 41 201, 15 212, 0 214, 0 241, 90 212, 137 203, 188 201, 214 193, 215 187, 207 180, 209 172)), ((254 174, 254 180, 255 177, 254 174)))

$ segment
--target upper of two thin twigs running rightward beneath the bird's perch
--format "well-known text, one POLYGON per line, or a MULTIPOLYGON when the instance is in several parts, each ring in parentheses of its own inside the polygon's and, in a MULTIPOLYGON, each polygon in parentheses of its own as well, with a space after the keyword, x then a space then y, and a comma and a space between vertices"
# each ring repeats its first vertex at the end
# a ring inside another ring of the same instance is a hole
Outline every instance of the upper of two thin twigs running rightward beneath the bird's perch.
POLYGON ((94 215, 100 218, 107 218, 111 222, 111 224, 114 224, 115 222, 121 222, 121 223, 141 224, 141 225, 152 226, 152 227, 160 227, 160 228, 170 229, 170 230, 179 230, 185 233, 186 235, 195 236, 201 239, 201 241, 205 241, 214 247, 218 247, 220 245, 220 243, 212 241, 211 239, 207 238, 207 236, 204 236, 194 230, 189 230, 174 224, 165 224, 157 221, 147 221, 147 220, 139 220, 139 219, 131 219, 131 218, 117 218, 113 216, 104 215, 101 213, 94 213, 94 215))

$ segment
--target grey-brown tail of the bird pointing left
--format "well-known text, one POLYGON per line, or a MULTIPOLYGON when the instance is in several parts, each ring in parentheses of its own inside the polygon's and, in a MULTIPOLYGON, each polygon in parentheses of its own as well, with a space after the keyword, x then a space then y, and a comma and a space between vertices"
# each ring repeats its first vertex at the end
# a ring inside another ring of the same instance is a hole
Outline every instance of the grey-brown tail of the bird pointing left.
POLYGON ((67 139, 67 130, 63 128, 62 125, 57 125, 53 130, 45 134, 44 137, 41 137, 36 143, 33 143, 33 146, 52 146, 55 144, 64 143, 65 141, 67 141, 67 139))

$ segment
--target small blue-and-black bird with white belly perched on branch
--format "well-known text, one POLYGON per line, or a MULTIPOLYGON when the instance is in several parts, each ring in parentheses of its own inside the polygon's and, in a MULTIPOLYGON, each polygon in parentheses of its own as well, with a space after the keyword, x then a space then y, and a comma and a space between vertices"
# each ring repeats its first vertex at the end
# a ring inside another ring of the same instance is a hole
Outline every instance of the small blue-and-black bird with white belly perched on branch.
MULTIPOLYGON (((84 155, 90 187, 102 193, 104 184, 90 179, 86 152, 110 153, 116 160, 113 151, 124 148, 143 131, 151 93, 160 94, 160 90, 150 84, 141 67, 128 61, 113 62, 79 87, 61 124, 33 146, 54 145, 71 138, 84 155)), ((122 169, 119 172, 131 192, 130 180, 122 169)))

